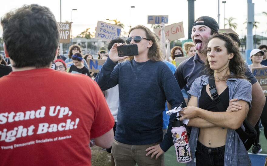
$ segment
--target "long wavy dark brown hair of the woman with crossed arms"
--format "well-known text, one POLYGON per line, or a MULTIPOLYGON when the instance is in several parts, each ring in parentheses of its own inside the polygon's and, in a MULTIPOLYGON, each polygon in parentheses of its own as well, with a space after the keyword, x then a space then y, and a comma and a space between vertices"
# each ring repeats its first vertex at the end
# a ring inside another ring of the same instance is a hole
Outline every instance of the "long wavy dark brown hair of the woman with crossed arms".
MULTIPOLYGON (((228 79, 228 78, 240 78, 240 79, 245 79, 247 80, 247 76, 245 75, 246 72, 246 67, 245 67, 245 63, 244 60, 242 59, 242 56, 238 50, 238 43, 235 42, 232 37, 230 37, 228 34, 215 34, 212 37, 209 38, 208 43, 211 41, 211 39, 214 38, 218 38, 222 41, 224 41, 224 45, 227 49, 227 54, 234 54, 234 57, 232 59, 230 59, 229 61, 229 69, 230 70, 230 75, 226 76, 224 79, 228 79), (231 73, 234 73, 234 75, 232 75, 231 73)), ((204 54, 207 55, 208 50, 207 50, 208 46, 205 47, 204 50, 204 54)), ((205 67, 208 70, 209 75, 214 75, 214 70, 211 69, 209 62, 208 62, 208 58, 205 62, 205 67)))

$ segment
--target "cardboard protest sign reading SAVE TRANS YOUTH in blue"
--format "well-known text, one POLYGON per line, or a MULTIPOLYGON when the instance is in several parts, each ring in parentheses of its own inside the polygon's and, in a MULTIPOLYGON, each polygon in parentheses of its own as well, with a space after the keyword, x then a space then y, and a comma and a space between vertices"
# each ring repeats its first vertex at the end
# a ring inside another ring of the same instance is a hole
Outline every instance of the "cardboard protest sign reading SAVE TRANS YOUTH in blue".
POLYGON ((110 41, 120 37, 121 27, 102 21, 97 21, 95 38, 103 41, 110 41))

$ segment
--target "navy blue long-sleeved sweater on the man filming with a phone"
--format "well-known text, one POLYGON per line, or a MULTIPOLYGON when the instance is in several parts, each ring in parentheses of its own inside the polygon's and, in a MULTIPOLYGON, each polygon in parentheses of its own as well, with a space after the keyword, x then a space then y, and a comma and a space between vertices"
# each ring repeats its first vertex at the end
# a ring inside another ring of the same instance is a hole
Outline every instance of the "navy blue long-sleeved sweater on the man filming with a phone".
MULTIPOLYGON (((116 64, 108 57, 95 79, 101 90, 119 84, 115 140, 128 145, 161 142, 162 112, 165 110, 166 100, 172 108, 184 102, 173 73, 163 61, 148 60, 138 63, 131 60, 121 62, 117 66, 116 64)), ((170 121, 173 121, 175 116, 171 116, 170 121)), ((161 142, 160 146, 163 151, 167 151, 172 145, 169 124, 164 142, 161 142)))

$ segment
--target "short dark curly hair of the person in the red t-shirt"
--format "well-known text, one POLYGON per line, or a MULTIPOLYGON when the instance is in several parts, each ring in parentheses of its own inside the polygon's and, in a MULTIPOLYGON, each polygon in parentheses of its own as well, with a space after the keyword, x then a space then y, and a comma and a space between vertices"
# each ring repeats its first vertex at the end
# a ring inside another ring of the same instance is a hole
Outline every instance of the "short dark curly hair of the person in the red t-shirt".
POLYGON ((49 8, 23 5, 6 13, 1 25, 13 67, 49 67, 59 43, 58 23, 49 8))

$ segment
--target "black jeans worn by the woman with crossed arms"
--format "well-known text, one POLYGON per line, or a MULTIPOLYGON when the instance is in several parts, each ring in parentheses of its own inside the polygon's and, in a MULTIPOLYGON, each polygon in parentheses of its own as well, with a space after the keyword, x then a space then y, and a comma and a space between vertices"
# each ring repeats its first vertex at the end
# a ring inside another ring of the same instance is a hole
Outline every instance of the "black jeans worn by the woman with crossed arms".
POLYGON ((218 148, 208 148, 198 142, 196 151, 196 166, 219 166, 224 164, 225 145, 218 148))

